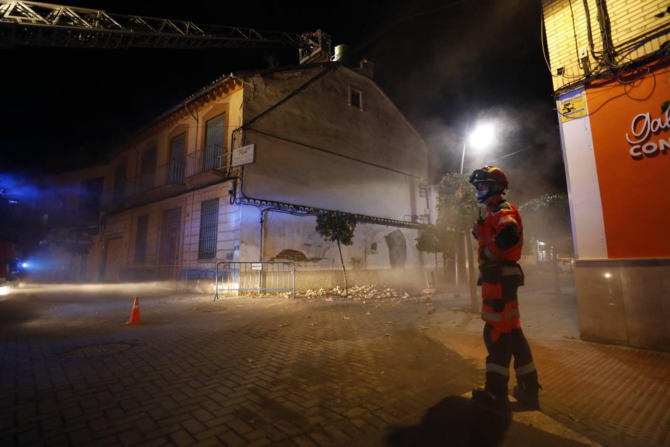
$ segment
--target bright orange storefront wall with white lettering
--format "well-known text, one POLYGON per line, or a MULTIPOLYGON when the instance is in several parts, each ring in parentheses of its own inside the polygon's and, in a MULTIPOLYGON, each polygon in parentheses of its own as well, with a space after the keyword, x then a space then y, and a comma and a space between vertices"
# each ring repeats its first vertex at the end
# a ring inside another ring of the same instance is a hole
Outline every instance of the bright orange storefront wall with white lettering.
POLYGON ((586 87, 610 259, 670 257, 669 61, 647 68, 586 87))

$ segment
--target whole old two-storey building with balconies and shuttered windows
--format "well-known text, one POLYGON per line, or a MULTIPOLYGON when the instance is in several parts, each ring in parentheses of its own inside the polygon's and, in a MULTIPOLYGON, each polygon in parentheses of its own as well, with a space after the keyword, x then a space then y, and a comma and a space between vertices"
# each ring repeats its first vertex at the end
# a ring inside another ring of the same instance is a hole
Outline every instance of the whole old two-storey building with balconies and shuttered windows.
POLYGON ((425 143, 370 65, 230 74, 112 151, 86 278, 212 292, 216 263, 262 260, 295 262, 298 289, 341 286, 315 230, 339 210, 356 214, 350 284, 415 283, 427 190, 425 143))

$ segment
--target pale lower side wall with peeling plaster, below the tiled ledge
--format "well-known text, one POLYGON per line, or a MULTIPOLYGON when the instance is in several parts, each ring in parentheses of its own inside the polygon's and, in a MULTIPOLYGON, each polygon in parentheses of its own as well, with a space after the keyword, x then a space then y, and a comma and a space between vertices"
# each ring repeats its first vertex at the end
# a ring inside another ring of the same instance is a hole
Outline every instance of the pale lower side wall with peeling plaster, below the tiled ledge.
MULTIPOLYGON (((241 259, 259 259, 257 208, 243 207, 241 259)), ((293 261, 298 288, 331 288, 342 285, 342 265, 336 243, 316 233, 314 216, 269 212, 265 218, 263 261, 293 261), (283 254, 283 256, 280 256, 283 254)), ((351 284, 414 284, 423 281, 423 268, 431 265, 414 247, 418 232, 386 225, 358 223, 354 244, 342 246, 342 257, 351 284)))

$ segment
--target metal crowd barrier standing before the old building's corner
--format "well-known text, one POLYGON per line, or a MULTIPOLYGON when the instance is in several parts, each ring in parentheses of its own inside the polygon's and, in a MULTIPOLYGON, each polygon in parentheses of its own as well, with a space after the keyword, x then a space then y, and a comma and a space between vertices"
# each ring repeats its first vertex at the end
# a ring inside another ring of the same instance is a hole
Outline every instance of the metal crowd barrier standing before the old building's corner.
POLYGON ((236 262, 216 264, 216 292, 261 292, 262 290, 291 291, 295 300, 295 263, 236 262), (219 277, 221 278, 219 285, 219 277))

